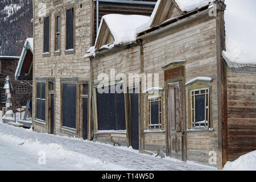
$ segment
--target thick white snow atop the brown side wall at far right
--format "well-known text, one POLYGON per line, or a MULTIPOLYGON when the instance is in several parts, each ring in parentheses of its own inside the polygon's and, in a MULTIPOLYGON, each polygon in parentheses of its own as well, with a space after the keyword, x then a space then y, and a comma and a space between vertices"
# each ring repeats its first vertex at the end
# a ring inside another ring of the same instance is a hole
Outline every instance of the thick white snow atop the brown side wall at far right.
POLYGON ((229 67, 256 67, 255 6, 241 6, 239 0, 225 3, 226 51, 222 57, 229 67))

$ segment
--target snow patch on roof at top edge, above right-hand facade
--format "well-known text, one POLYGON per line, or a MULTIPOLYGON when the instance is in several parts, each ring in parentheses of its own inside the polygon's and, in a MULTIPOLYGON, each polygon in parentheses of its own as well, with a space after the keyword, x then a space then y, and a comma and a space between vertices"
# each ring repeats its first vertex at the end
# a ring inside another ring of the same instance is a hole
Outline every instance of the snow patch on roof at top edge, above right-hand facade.
POLYGON ((203 6, 209 5, 214 0, 175 0, 181 11, 192 11, 203 6))

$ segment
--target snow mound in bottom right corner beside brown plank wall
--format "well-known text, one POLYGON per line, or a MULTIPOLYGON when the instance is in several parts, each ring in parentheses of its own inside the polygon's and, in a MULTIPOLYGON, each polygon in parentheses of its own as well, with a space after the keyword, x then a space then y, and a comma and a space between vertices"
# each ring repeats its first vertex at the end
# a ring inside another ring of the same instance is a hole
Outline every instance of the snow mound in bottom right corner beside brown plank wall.
POLYGON ((240 156, 234 162, 227 162, 224 170, 256 171, 256 151, 240 156))

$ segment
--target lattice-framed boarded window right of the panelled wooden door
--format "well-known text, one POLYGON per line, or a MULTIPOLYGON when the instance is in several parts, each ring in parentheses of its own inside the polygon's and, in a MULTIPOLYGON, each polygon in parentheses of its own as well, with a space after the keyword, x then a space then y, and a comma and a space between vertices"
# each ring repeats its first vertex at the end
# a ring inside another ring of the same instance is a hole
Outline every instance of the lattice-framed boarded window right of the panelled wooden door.
POLYGON ((191 90, 192 127, 209 126, 209 89, 191 90))

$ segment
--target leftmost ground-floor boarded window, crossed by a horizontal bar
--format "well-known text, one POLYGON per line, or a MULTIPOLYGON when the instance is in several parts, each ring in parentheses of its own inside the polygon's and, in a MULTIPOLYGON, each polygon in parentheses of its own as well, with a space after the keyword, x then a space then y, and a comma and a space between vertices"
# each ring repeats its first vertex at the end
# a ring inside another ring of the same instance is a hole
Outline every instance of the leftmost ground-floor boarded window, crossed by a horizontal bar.
POLYGON ((36 83, 36 118, 46 121, 46 83, 36 83))

